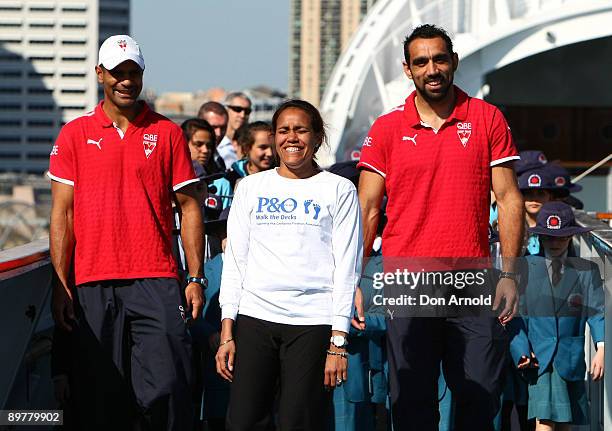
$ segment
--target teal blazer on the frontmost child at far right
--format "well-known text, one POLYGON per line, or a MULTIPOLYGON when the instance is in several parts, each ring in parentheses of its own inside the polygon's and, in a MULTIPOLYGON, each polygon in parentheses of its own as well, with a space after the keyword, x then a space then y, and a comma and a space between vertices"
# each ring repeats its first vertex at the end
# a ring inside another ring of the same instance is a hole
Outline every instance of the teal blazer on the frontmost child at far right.
POLYGON ((508 325, 510 353, 515 364, 534 352, 538 375, 549 365, 565 380, 584 379, 585 327, 593 343, 604 341, 604 289, 597 264, 581 258, 568 259, 561 281, 553 286, 550 261, 528 256, 525 292, 520 297, 520 316, 508 325))

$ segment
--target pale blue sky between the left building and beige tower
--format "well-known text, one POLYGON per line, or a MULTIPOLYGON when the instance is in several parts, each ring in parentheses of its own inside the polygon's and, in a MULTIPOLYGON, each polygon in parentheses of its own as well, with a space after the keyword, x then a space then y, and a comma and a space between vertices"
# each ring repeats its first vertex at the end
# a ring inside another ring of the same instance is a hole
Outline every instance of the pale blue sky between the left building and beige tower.
POLYGON ((131 0, 145 87, 287 90, 289 0, 131 0))

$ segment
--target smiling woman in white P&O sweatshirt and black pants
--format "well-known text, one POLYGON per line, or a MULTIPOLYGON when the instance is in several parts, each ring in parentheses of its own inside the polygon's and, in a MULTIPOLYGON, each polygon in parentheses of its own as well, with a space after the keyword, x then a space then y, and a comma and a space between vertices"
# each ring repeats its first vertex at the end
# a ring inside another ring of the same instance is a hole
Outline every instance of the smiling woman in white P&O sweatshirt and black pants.
POLYGON ((321 430, 347 377, 346 336, 361 272, 355 186, 322 171, 323 120, 308 102, 272 119, 280 167, 249 175, 230 211, 217 372, 232 382, 227 426, 321 430))

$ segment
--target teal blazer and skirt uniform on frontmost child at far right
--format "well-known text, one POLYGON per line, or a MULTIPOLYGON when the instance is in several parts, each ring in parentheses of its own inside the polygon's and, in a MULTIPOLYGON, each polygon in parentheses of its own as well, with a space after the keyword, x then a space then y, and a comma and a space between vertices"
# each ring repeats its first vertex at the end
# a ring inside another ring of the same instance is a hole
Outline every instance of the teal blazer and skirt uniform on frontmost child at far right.
MULTIPOLYGON (((576 425, 588 423, 584 375, 585 326, 604 340, 604 294, 596 264, 565 260, 561 280, 550 281, 549 260, 528 256, 521 317, 510 324, 514 364, 534 352, 537 376, 529 383, 529 417, 576 425)), ((535 371, 535 370, 529 370, 535 371)))

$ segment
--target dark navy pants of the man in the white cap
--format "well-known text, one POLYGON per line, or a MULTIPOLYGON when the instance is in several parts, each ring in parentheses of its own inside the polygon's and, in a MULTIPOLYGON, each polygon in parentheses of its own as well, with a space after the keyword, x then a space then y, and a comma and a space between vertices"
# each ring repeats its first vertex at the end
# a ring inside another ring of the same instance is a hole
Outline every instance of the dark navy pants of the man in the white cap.
POLYGON ((80 429, 190 430, 192 359, 178 282, 113 280, 76 293, 80 429))

